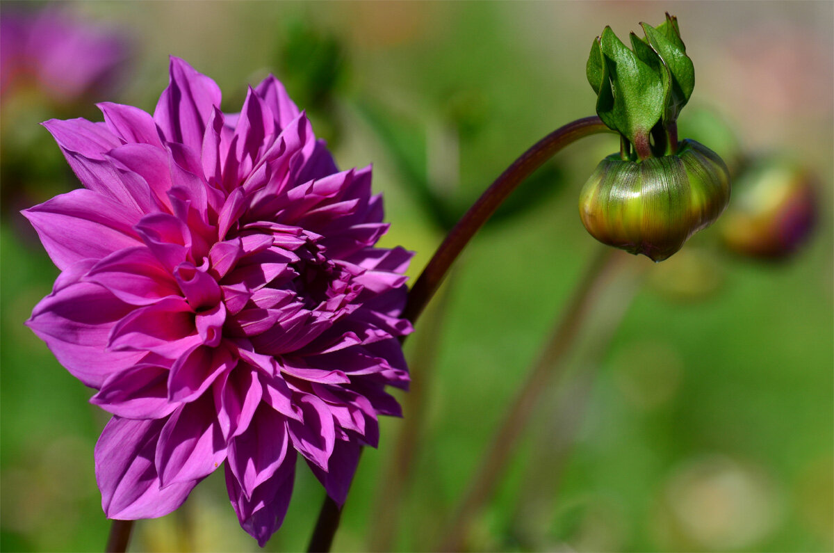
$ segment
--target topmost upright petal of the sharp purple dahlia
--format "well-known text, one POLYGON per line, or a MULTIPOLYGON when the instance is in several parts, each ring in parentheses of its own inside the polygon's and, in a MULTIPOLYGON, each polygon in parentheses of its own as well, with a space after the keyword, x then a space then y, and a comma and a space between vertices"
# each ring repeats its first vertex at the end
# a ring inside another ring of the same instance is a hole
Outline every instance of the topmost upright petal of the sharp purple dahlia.
POLYGON ((220 107, 220 89, 214 80, 173 56, 170 76, 170 84, 159 98, 153 120, 165 140, 200 151, 206 122, 212 109, 220 107))

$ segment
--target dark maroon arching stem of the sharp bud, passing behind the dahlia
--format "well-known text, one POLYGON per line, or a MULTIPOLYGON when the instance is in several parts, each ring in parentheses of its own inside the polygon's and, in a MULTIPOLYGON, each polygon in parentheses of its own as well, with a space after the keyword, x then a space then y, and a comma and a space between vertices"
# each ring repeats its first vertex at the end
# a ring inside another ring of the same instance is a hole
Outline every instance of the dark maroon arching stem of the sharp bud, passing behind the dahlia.
MULTIPOLYGON (((417 321, 420 313, 423 312, 425 306, 437 292, 452 263, 455 262, 455 259, 472 239, 472 236, 475 236, 475 232, 481 226, 484 226, 484 223, 506 200, 510 192, 515 190, 521 182, 565 146, 573 144, 576 140, 585 138, 585 136, 603 132, 611 132, 611 130, 595 115, 576 119, 548 134, 520 155, 480 195, 480 198, 475 201, 469 211, 466 211, 446 236, 443 243, 440 244, 429 264, 425 266, 420 277, 411 287, 402 316, 412 323, 417 321)), ((330 550, 335 532, 339 528, 340 515, 339 506, 329 496, 325 496, 324 505, 319 511, 319 519, 316 521, 308 551, 330 550)))

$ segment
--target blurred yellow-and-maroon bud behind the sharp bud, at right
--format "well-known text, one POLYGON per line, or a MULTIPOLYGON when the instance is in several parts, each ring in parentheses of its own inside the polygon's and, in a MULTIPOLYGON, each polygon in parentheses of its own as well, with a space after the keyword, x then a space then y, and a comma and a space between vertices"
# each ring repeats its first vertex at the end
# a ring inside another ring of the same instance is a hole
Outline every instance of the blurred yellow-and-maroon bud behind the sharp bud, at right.
POLYGON ((762 158, 741 172, 738 195, 721 238, 742 256, 784 259, 808 241, 816 224, 816 180, 801 167, 762 158))

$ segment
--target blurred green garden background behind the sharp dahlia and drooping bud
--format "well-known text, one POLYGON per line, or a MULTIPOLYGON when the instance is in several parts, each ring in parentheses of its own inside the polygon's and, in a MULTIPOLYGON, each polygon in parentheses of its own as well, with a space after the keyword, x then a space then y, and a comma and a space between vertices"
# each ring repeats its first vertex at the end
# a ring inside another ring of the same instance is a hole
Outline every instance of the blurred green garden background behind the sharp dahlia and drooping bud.
MULTIPOLYGON (((679 19, 696 67, 681 138, 730 165, 731 206, 668 261, 616 258, 464 547, 834 547, 834 4, 0 10, 0 549, 102 550, 109 527, 93 474, 106 416, 23 326, 58 271, 18 211, 78 186, 39 122, 101 120, 93 104, 103 100, 153 112, 168 54, 218 82, 224 111, 239 109, 245 84, 274 73, 340 166, 374 164, 393 223, 383 245, 416 251, 416 277, 516 156, 594 114, 585 61, 605 25, 625 39, 664 11, 679 19)), ((570 146, 465 251, 407 344, 419 381, 399 398, 413 422, 403 434, 404 420, 382 421, 335 550, 433 550, 448 534, 490 436, 602 247, 581 226, 576 199, 617 147, 613 135, 570 146)), ((323 496, 299 470, 284 526, 265 549, 304 549, 323 496)), ((182 509, 139 522, 132 550, 258 547, 239 528, 219 471, 182 509)))

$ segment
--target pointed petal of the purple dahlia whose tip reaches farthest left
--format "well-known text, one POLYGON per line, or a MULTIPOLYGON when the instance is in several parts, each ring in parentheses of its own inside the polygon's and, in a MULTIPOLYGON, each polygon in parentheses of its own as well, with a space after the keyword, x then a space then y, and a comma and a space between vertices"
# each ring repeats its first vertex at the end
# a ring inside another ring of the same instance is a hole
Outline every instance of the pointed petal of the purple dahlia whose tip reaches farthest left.
POLYGON ((23 211, 23 216, 62 271, 76 261, 102 259, 113 251, 141 245, 131 228, 139 220, 138 213, 92 190, 55 196, 23 211))

